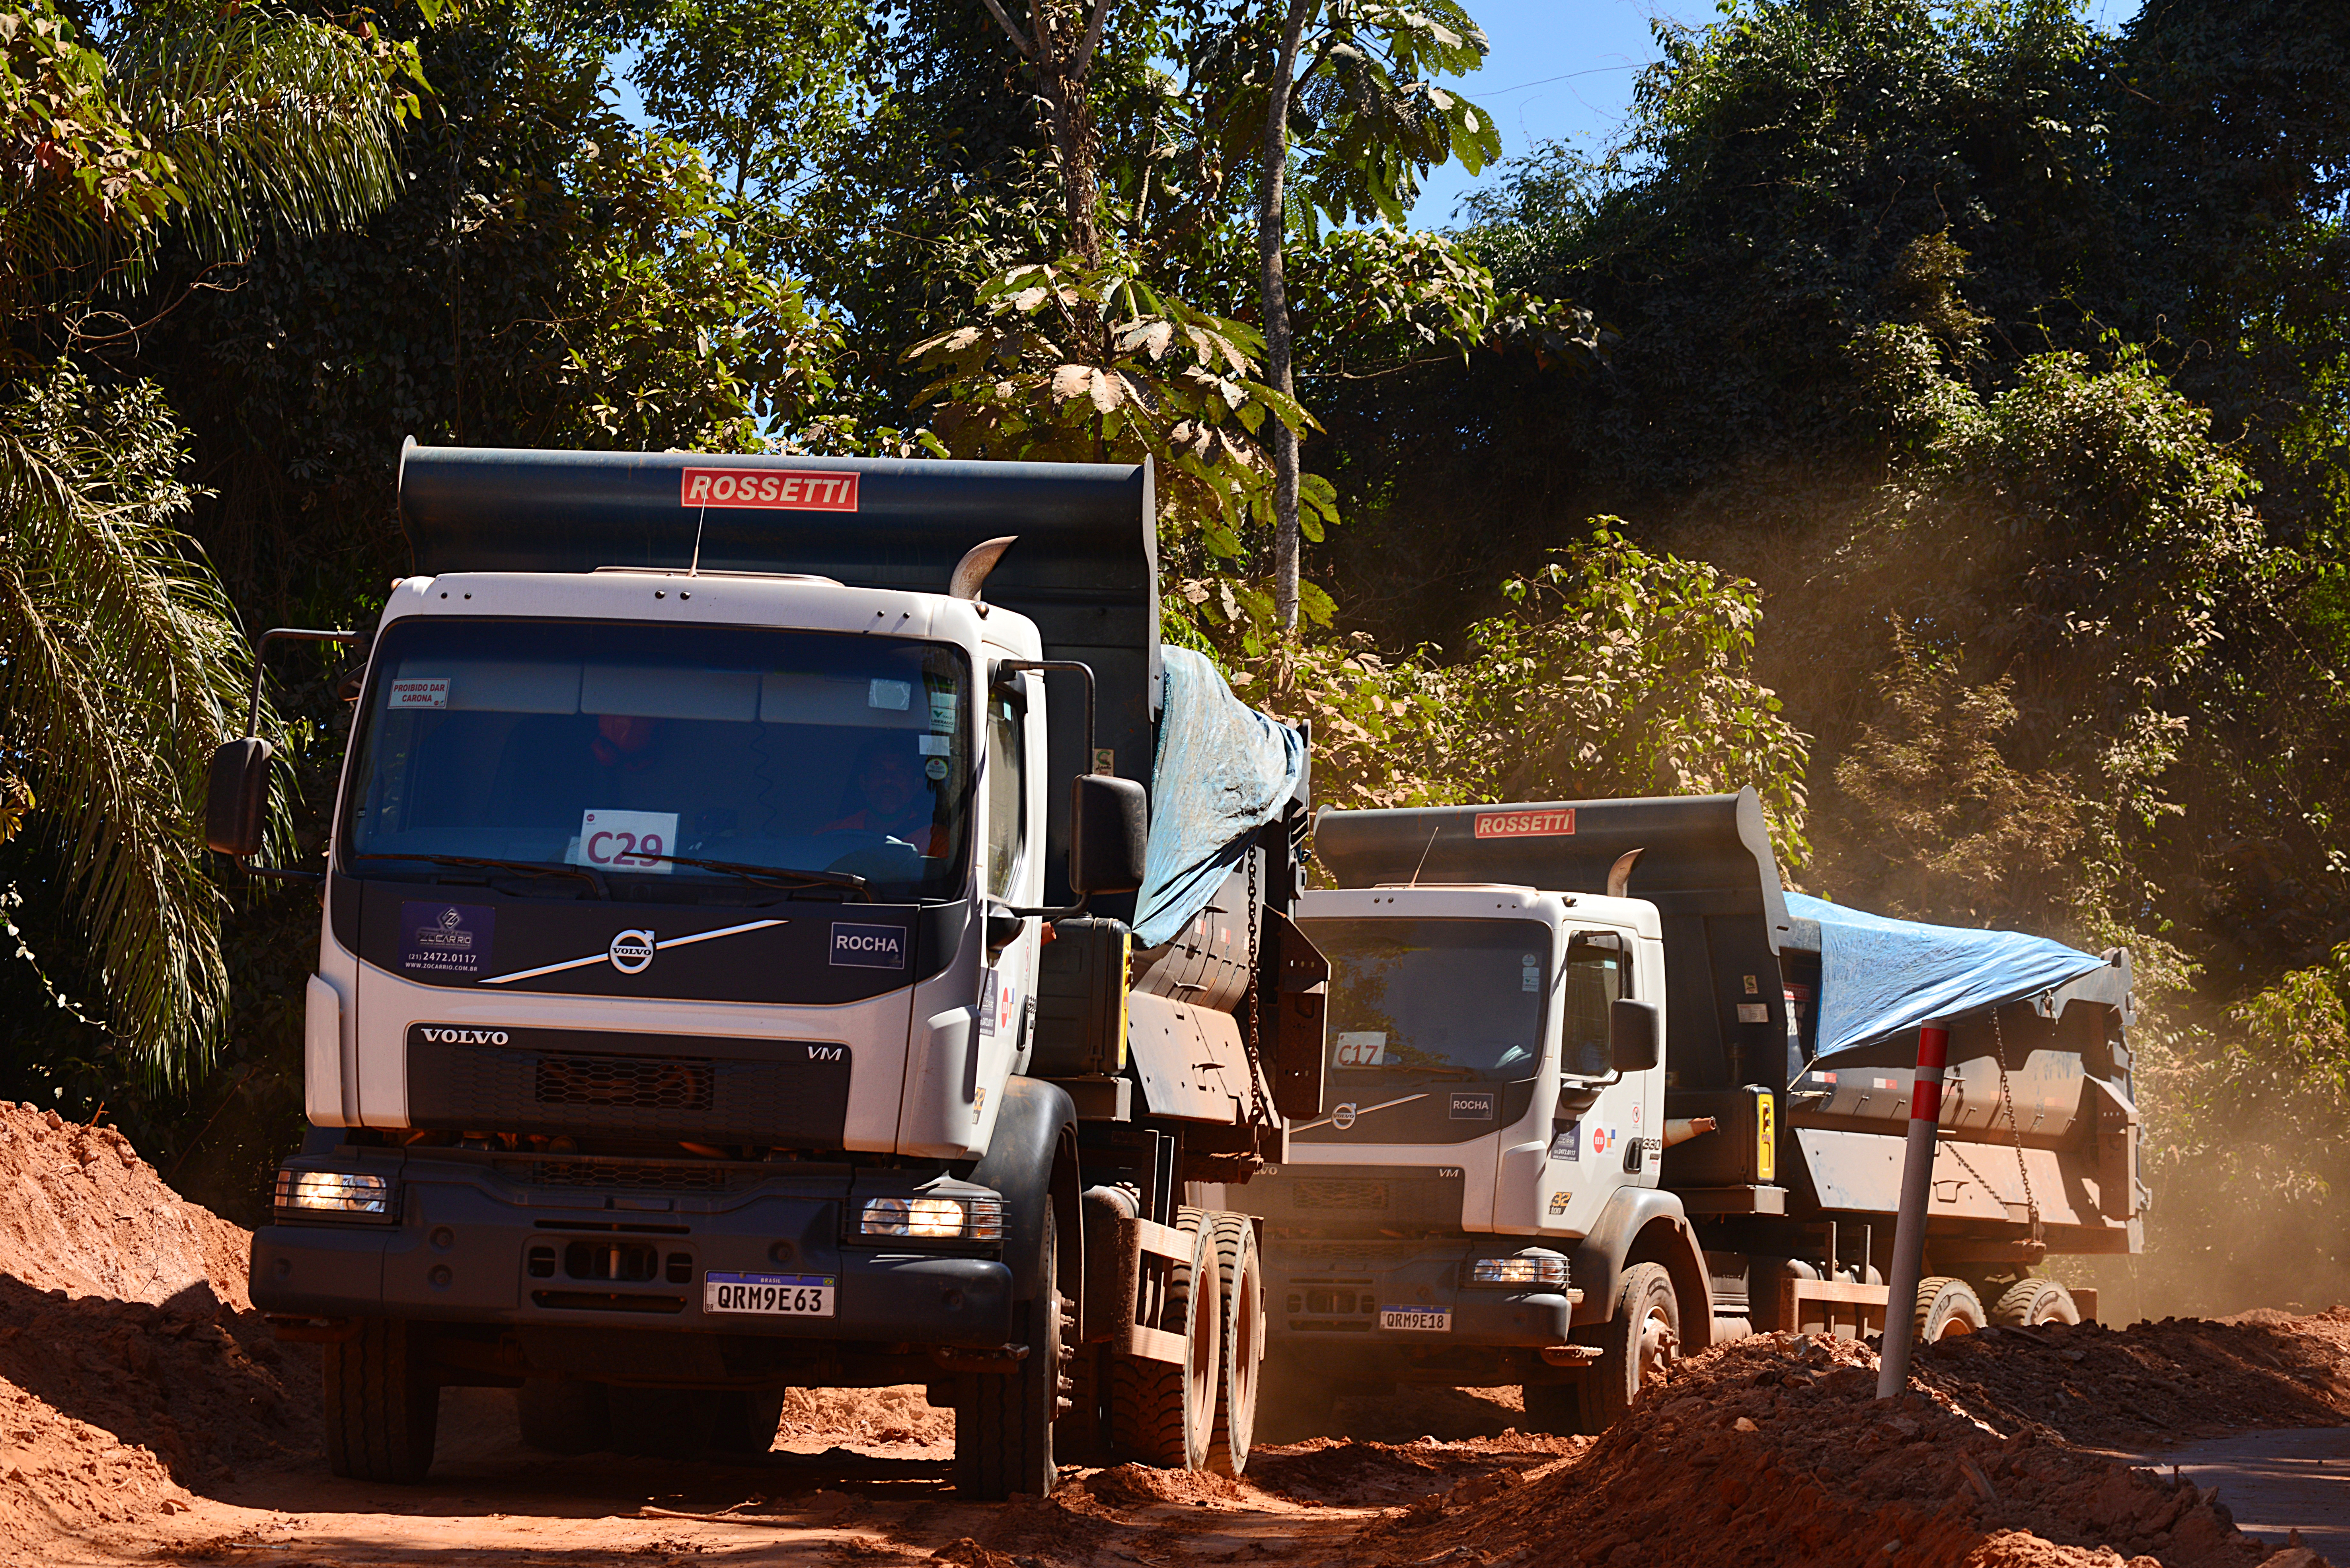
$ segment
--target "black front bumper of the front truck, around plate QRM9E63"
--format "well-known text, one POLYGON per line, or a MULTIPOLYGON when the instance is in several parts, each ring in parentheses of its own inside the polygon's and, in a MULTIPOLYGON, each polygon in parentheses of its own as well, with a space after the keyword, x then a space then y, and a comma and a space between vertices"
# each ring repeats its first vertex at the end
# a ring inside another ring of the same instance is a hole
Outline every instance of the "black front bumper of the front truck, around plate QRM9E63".
POLYGON ((858 1171, 783 1166, 733 1192, 512 1180, 494 1161, 383 1157, 390 1225, 275 1222, 254 1232, 254 1305, 284 1316, 637 1328, 860 1345, 996 1347, 1013 1276, 996 1258, 841 1246, 867 1197, 858 1171), (703 1309, 705 1274, 834 1281, 830 1316, 703 1309))

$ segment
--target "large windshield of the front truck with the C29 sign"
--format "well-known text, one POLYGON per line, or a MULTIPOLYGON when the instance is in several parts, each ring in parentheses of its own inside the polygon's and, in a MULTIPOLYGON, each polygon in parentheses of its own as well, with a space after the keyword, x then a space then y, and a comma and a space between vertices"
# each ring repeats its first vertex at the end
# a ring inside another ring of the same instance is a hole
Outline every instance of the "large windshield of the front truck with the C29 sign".
MULTIPOLYGON (((341 835, 348 870, 432 879, 451 872, 421 856, 468 856, 590 872, 517 877, 512 891, 529 896, 792 896, 787 879, 691 858, 860 877, 886 903, 964 896, 971 668, 959 649, 421 616, 383 635, 371 668, 341 835)), ((839 882, 808 891, 844 896, 839 882)))

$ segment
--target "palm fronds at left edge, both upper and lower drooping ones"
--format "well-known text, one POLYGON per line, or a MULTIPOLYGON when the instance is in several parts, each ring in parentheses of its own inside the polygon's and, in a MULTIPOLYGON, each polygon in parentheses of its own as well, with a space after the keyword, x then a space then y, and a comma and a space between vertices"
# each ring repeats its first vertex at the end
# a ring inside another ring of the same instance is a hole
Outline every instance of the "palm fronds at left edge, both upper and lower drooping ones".
MULTIPOLYGON (((47 0, 0 19, 7 306, 89 348, 141 320, 162 247, 197 266, 348 223, 397 188, 411 49, 266 9, 134 12, 103 47, 47 0)), ((226 1004, 195 839, 202 764, 240 722, 242 637, 188 512, 157 388, 19 355, 0 402, 0 755, 45 802, 33 853, 70 889, 96 1011, 183 1079, 226 1004)))

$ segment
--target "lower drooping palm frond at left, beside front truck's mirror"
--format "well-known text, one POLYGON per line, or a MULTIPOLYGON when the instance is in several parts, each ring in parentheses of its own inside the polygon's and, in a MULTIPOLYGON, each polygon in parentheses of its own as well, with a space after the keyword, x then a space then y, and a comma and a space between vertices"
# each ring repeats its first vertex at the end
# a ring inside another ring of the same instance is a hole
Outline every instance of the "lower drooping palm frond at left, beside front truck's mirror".
POLYGON ((89 1006, 162 1081, 202 1065, 226 1006, 197 820, 247 658, 174 527, 183 458, 153 386, 56 371, 0 404, 0 755, 47 802, 31 837, 87 943, 89 1006))

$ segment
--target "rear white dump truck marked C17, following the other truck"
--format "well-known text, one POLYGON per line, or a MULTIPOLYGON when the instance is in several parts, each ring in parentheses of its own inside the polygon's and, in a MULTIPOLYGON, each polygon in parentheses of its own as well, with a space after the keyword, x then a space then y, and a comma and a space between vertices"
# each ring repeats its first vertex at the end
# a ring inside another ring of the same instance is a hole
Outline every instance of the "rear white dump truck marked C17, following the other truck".
POLYGON ((1281 1425, 1438 1382, 1598 1432, 1748 1331, 2094 1314, 2035 1265, 2141 1246, 2122 950, 1786 893, 1751 790, 1323 811, 1314 853, 1330 1105, 1234 1194, 1281 1425), (1927 1023, 1929 1276, 1887 1307, 1927 1023))

